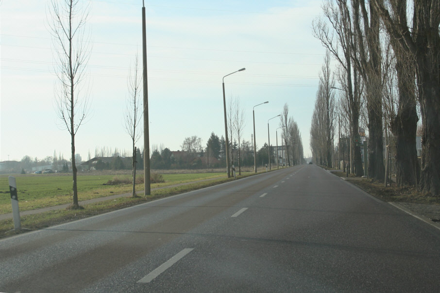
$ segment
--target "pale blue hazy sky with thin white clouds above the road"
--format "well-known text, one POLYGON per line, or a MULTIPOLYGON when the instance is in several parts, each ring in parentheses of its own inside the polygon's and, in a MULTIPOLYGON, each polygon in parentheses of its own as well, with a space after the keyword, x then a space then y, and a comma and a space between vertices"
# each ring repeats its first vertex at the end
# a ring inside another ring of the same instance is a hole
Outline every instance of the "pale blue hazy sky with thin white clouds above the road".
MULTIPOLYGON (((102 147, 127 151, 127 79, 136 53, 142 62, 142 1, 92 0, 87 29, 90 111, 75 136, 85 161, 102 147)), ((238 97, 251 141, 255 107, 257 148, 268 142, 268 120, 281 114, 299 126, 310 152, 310 124, 325 49, 313 37, 321 0, 147 0, 149 132, 152 146, 179 150, 186 137, 224 136, 226 102, 238 97)), ((55 107, 54 49, 45 0, 0 1, 0 161, 70 158, 70 135, 55 107)), ((142 97, 141 97, 142 98, 142 97)), ((271 145, 281 145, 278 118, 271 145)), ((136 144, 142 147, 143 139, 136 144)))

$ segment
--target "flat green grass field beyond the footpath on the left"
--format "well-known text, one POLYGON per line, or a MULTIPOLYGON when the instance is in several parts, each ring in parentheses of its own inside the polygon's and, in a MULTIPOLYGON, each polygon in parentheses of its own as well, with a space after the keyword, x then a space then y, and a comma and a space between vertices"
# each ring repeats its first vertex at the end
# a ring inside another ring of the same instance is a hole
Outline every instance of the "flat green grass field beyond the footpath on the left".
MULTIPOLYGON (((140 177, 143 175, 141 174, 140 177)), ((163 174, 164 183, 153 183, 151 188, 174 185, 203 179, 226 178, 225 173, 190 173, 163 174)), ((17 181, 18 202, 20 211, 34 210, 72 202, 71 174, 30 174, 15 175, 17 181)), ((130 175, 79 175, 78 199, 87 200, 115 194, 129 193, 131 184, 104 185, 118 178, 131 178, 130 175)), ((143 184, 136 184, 136 191, 144 189, 143 184)), ((8 176, 0 176, 0 214, 12 212, 9 195, 8 176)))

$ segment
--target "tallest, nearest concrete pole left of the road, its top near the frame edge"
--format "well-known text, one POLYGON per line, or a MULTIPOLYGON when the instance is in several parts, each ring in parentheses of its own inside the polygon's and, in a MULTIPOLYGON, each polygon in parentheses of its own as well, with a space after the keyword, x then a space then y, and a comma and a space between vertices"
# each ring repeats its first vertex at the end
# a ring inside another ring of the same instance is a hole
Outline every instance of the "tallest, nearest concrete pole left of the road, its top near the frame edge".
POLYGON ((142 59, 144 81, 144 195, 151 195, 150 187, 150 132, 148 125, 148 81, 147 81, 147 32, 145 4, 142 0, 142 59))

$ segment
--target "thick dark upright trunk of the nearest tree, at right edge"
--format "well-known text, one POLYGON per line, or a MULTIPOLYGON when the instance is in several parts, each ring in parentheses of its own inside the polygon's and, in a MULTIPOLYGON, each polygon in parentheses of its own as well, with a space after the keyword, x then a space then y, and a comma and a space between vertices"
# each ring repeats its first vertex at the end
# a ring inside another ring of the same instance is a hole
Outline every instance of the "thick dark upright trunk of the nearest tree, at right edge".
POLYGON ((440 2, 415 1, 417 82, 422 112, 419 190, 440 196, 440 2))

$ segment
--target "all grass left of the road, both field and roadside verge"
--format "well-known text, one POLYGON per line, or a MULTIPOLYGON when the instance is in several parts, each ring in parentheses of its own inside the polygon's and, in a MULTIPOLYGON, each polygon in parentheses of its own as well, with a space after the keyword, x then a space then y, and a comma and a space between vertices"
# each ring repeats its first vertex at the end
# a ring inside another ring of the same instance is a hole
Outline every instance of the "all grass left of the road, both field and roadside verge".
MULTIPOLYGON (((255 174, 254 172, 241 173, 242 175, 240 177, 237 176, 237 179, 249 177, 255 174)), ((127 175, 116 176, 125 177, 127 175)), ((78 187, 79 190, 81 190, 81 192, 79 193, 79 200, 88 199, 86 197, 93 198, 131 192, 131 184, 123 184, 117 186, 102 185, 104 183, 107 183, 109 180, 112 180, 114 177, 115 175, 79 176, 78 187), (80 182, 82 182, 81 186, 80 182)), ((12 219, 0 221, 0 238, 8 237, 17 233, 27 232, 29 230, 46 228, 53 225, 62 224, 97 214, 102 214, 104 212, 110 212, 129 206, 134 206, 143 202, 151 201, 153 199, 181 194, 234 180, 234 178, 227 178, 225 173, 163 174, 163 177, 165 179, 165 183, 152 184, 152 194, 148 196, 118 197, 116 199, 87 204, 82 210, 62 209, 22 216, 20 219, 22 229, 20 231, 14 230, 14 221, 12 219), (180 183, 186 184, 179 185, 180 183), (157 187, 164 188, 153 190, 157 187)), ((71 203, 70 195, 67 194, 67 192, 69 192, 71 189, 71 175, 18 175, 16 176, 16 179, 20 211, 31 210, 29 209, 29 207, 36 209, 43 206, 58 205, 61 204, 61 202, 71 203), (23 189, 23 191, 21 191, 21 195, 20 186, 23 189), (63 189, 61 189, 61 187, 55 186, 62 186, 64 188, 64 191, 63 189), (53 191, 54 188, 56 189, 56 191, 53 191), (61 191, 57 188, 60 188, 61 191), (34 199, 27 201, 23 200, 23 198, 30 199, 31 194, 34 196, 34 199)), ((143 190, 143 187, 143 183, 137 184, 136 190, 143 190)), ((9 196, 9 185, 7 176, 0 176, 0 191, 6 192, 6 194, 3 194, 2 196, 0 195, 0 208, 2 210, 8 210, 8 212, 11 212, 11 200, 9 196)))

